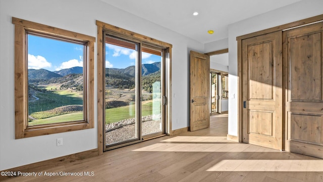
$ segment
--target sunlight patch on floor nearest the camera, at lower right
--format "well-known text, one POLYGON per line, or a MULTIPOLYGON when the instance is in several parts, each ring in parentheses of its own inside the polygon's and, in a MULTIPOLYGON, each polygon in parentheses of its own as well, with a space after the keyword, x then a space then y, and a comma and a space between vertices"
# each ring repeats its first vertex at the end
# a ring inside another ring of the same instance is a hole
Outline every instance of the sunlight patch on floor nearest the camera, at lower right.
POLYGON ((206 171, 323 172, 323 160, 222 160, 206 171))

